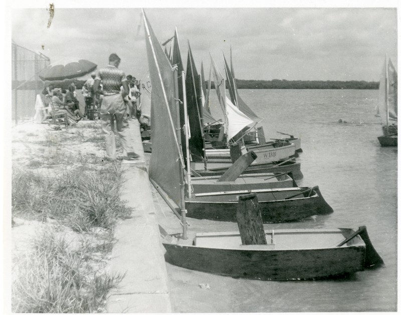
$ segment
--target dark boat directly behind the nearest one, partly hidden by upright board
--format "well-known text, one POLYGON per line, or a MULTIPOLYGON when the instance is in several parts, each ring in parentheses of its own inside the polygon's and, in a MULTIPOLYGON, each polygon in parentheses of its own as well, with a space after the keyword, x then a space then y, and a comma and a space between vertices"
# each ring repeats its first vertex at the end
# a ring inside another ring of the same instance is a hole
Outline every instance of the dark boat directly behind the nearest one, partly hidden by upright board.
MULTIPOLYGON (((220 195, 195 195, 192 199, 185 201, 187 216, 195 219, 208 219, 216 221, 237 221, 238 196, 247 194, 220 195)), ((329 214, 333 209, 327 204, 315 187, 312 193, 305 192, 303 195, 292 199, 285 199, 295 195, 295 190, 286 190, 285 193, 257 192, 259 208, 263 222, 278 223, 301 220, 312 215, 329 214), (310 196, 308 196, 310 194, 310 196), (276 200, 277 198, 277 200, 276 200)))

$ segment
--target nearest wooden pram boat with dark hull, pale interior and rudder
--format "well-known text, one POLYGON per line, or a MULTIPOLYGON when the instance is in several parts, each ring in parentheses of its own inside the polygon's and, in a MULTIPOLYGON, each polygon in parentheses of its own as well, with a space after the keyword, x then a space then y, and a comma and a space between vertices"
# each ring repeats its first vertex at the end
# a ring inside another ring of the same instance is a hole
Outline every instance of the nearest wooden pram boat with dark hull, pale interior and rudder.
POLYGON ((321 279, 383 264, 364 226, 357 231, 271 229, 265 234, 265 245, 242 245, 239 232, 188 233, 187 239, 171 234, 162 243, 171 264, 236 278, 321 279))

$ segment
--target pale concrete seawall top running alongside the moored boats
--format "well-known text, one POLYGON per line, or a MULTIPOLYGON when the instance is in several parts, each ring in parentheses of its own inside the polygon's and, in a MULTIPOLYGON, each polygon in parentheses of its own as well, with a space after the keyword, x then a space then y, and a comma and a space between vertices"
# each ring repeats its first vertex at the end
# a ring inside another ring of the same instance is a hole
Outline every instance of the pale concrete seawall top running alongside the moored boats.
POLYGON ((141 158, 123 161, 121 198, 132 207, 132 217, 115 227, 110 272, 125 276, 107 298, 110 313, 171 312, 164 249, 144 162, 137 120, 129 122, 134 152, 141 158))

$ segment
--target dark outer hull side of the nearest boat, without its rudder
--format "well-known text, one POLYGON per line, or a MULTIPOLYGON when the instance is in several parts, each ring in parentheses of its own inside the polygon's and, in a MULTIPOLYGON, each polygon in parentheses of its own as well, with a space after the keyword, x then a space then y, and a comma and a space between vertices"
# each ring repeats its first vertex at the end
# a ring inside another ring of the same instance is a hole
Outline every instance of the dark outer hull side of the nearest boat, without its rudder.
MULTIPOLYGON (((329 248, 302 249, 292 246, 302 232, 294 233, 293 241, 288 248, 277 250, 274 244, 268 245, 238 245, 237 248, 224 248, 218 239, 224 233, 216 233, 211 245, 197 245, 196 237, 189 237, 193 243, 177 244, 163 241, 166 249, 166 261, 192 270, 210 272, 235 278, 250 278, 260 280, 299 280, 319 279, 349 274, 364 269, 365 244, 360 238, 352 244, 341 247, 334 238, 329 248), (220 248, 214 248, 220 247, 220 248), (272 247, 271 249, 268 247, 272 247)), ((212 234, 212 233, 205 233, 212 234)), ((178 236, 179 237, 179 236, 178 236)), ((320 236, 317 236, 320 237, 320 236)), ((324 234, 321 236, 326 237, 324 234)), ((269 235, 266 235, 269 238, 269 235)), ((279 241, 277 241, 278 243, 279 241)), ((230 240, 228 240, 230 243, 230 240)), ((239 241, 241 244, 241 240, 239 241)), ((312 246, 313 247, 313 246, 312 246)), ((327 246, 325 246, 327 247, 327 246)))

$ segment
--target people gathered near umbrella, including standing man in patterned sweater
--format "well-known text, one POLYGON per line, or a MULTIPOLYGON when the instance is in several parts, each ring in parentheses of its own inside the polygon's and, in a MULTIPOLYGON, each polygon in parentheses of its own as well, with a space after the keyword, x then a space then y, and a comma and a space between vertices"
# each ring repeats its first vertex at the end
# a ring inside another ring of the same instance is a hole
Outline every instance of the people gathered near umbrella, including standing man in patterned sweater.
POLYGON ((128 119, 138 118, 140 109, 137 100, 140 96, 139 83, 131 75, 125 76, 124 71, 118 69, 121 59, 117 54, 109 56, 109 65, 92 73, 82 87, 85 99, 85 112, 82 114, 79 102, 76 99, 75 84, 68 87, 68 91, 49 85, 43 91, 45 102, 52 106, 54 111, 65 112, 67 117, 77 122, 83 119, 90 109, 100 107, 100 120, 106 142, 107 159, 116 159, 115 132, 118 133, 122 148, 123 159, 136 160, 139 155, 133 152, 128 141, 128 119), (65 93, 63 93, 65 92, 65 93))

